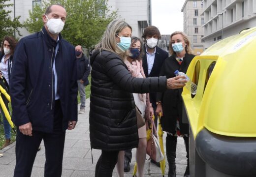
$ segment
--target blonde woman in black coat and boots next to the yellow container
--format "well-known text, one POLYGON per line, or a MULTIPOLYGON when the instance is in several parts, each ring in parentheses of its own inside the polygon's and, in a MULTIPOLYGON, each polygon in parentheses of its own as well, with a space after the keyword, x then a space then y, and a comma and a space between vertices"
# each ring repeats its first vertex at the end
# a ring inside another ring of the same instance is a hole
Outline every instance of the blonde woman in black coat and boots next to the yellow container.
MULTIPOLYGON (((191 43, 188 36, 181 31, 175 31, 170 36, 170 57, 165 59, 160 76, 174 77, 174 72, 179 70, 186 73, 190 62, 195 57, 192 54, 191 43)), ((189 166, 189 124, 182 123, 182 88, 165 90, 157 95, 157 114, 161 113, 162 130, 167 132, 166 157, 169 164, 168 177, 176 177, 176 147, 177 136, 182 136, 187 151, 187 168, 184 177, 190 177, 189 166)))

